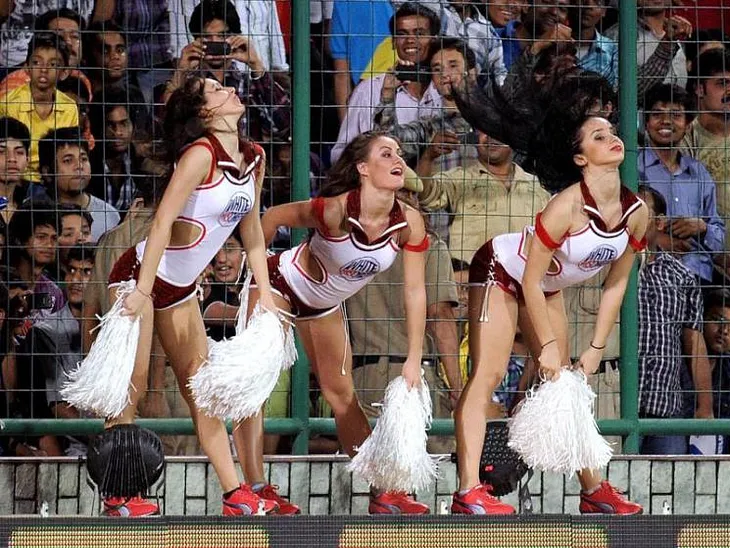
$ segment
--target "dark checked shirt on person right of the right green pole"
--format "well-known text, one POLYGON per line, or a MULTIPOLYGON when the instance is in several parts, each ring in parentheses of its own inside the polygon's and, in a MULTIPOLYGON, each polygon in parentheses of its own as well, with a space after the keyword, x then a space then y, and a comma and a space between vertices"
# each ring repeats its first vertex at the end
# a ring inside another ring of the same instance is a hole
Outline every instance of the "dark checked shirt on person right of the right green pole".
POLYGON ((673 417, 682 409, 682 334, 702 329, 702 292, 695 276, 660 252, 639 273, 639 412, 673 417))

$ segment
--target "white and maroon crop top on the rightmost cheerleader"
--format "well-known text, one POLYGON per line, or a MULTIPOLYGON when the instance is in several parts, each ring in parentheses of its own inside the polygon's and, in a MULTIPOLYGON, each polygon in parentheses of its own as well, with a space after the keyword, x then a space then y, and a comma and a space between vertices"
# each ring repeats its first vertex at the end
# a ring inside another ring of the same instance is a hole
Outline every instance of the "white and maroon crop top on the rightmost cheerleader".
POLYGON ((537 236, 543 244, 555 250, 552 264, 542 281, 542 290, 546 292, 560 291, 592 278, 616 261, 628 245, 636 251, 646 247, 646 241, 636 240, 629 234, 627 227, 629 217, 642 204, 633 192, 621 187, 621 220, 612 232, 608 232, 606 222, 588 191, 588 185, 581 182, 580 189, 585 204, 583 211, 588 215, 588 222, 580 230, 567 233, 561 241, 555 242, 543 228, 538 213, 534 227, 526 227, 521 233, 503 234, 492 240, 496 259, 512 278, 522 283, 527 264, 528 234, 537 236))

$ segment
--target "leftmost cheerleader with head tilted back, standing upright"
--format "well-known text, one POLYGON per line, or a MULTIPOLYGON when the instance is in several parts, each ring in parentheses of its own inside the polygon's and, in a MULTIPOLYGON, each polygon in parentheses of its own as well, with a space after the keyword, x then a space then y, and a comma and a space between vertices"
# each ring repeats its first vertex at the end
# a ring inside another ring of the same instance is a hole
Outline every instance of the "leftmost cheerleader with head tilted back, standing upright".
MULTIPOLYGON (((275 310, 266 268, 266 246, 258 216, 263 180, 263 150, 239 135, 245 112, 234 88, 215 80, 191 78, 170 97, 164 131, 174 170, 162 192, 147 239, 127 250, 109 276, 115 287, 131 278, 136 287, 124 300, 125 313, 140 318, 137 361, 132 375, 136 390, 124 413, 107 423, 131 423, 147 383, 152 331, 175 371, 195 428, 223 490, 225 515, 252 514, 261 499, 239 485, 223 422, 195 406, 188 389, 208 354, 205 327, 196 297, 196 280, 239 227, 251 269, 259 281, 261 306, 275 310)), ((107 499, 107 515, 158 513, 139 497, 107 499)), ((276 504, 264 501, 265 512, 276 504)))

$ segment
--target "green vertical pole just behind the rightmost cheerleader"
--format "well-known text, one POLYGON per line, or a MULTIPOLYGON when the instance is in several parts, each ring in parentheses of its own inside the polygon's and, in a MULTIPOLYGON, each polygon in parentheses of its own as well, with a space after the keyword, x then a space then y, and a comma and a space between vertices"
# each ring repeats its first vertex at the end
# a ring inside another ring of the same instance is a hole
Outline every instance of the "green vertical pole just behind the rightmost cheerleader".
MULTIPOLYGON (((620 131, 626 145, 626 158, 621 166, 624 185, 636 190, 638 151, 636 82, 636 0, 619 4, 619 81, 620 131)), ((637 273, 634 266, 621 307, 621 418, 637 425, 639 418, 639 326, 637 273)), ((639 452, 639 431, 634 427, 624 440, 624 453, 639 452)))

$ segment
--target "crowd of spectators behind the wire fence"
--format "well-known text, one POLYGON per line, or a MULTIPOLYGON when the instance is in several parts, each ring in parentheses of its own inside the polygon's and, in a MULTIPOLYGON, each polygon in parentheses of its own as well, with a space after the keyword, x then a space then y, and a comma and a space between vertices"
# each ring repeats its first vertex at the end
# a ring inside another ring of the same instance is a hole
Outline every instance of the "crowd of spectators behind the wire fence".
MULTIPOLYGON (((59 393, 108 310, 112 265, 145 238, 169 165, 158 153, 170 95, 190 74, 232 87, 243 130, 267 154, 263 207, 291 200, 293 0, 0 0, 0 418, 79 418, 59 393)), ((310 189, 369 130, 400 141, 404 192, 430 227, 422 363, 434 415, 449 418, 469 372, 469 265, 487 240, 520 232, 550 200, 524 158, 472 127, 456 93, 509 87, 528 66, 549 89, 571 69, 619 106, 617 0, 311 1, 310 189)), ((730 418, 730 5, 638 0, 640 196, 652 216, 638 291, 640 416, 730 418)), ((519 89, 509 90, 519 93, 519 89)), ((622 105, 623 106, 623 105, 622 105)), ((624 181, 624 184, 634 181, 624 181)), ((274 246, 292 245, 280 231, 274 246)), ((346 303, 353 380, 366 414, 407 354, 402 258, 346 303)), ((208 335, 234 333, 245 252, 235 232, 199 280, 208 335)), ((590 343, 602 278, 565 291, 574 357, 590 343)), ((535 364, 521 337, 495 396, 504 416, 535 364)), ((156 351, 145 417, 189 416, 156 351)), ((590 382, 599 418, 618 418, 618 329, 590 382)), ((331 416, 316 388, 313 416, 331 416)), ((281 377, 267 417, 290 411, 281 377)), ((194 438, 163 438, 198 454, 194 438)), ((266 451, 287 452, 267 436, 266 451)), ((0 455, 77 455, 80 437, 0 436, 0 455)), ((647 436, 645 454, 686 454, 686 436, 647 436)), ((313 452, 335 452, 315 437, 313 452)), ((452 452, 433 437, 429 450, 452 452)), ((730 444, 725 443, 725 452, 730 444)))

